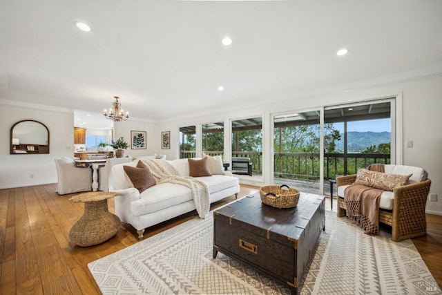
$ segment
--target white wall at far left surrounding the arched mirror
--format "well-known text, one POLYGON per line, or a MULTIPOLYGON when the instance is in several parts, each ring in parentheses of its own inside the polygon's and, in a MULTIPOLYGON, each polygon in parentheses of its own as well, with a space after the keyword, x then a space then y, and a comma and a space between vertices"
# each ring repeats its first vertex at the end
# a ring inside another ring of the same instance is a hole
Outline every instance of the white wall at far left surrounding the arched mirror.
POLYGON ((57 182, 54 159, 73 158, 74 133, 73 111, 58 111, 52 108, 33 108, 4 104, 0 99, 0 189, 26 187, 36 184, 57 182), (20 120, 36 120, 49 129, 50 145, 48 154, 10 155, 10 129, 20 120), (34 177, 30 178, 33 174, 34 177))

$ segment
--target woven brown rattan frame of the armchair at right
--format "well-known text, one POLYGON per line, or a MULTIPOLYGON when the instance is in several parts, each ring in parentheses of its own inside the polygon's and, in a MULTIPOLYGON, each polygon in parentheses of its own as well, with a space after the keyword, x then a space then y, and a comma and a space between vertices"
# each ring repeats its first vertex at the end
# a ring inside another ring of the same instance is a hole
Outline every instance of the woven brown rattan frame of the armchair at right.
MULTIPOLYGON (((356 174, 336 178, 338 188, 353 184, 356 174)), ((404 185, 394 189, 393 209, 379 209, 379 222, 392 227, 392 240, 398 242, 407 238, 425 236, 427 223, 425 221, 425 204, 430 192, 431 180, 426 178, 421 182, 404 185)), ((345 216, 345 200, 338 196, 338 217, 345 216)))

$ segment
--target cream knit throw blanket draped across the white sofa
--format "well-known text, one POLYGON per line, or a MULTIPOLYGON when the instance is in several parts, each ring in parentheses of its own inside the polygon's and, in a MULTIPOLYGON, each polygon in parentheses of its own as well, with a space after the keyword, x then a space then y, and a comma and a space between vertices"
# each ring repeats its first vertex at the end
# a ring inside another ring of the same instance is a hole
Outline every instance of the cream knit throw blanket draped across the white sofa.
POLYGON ((210 210, 209 187, 200 180, 190 176, 181 176, 177 169, 166 160, 140 159, 151 170, 157 184, 171 182, 189 187, 192 191, 193 203, 200 218, 206 218, 210 210))

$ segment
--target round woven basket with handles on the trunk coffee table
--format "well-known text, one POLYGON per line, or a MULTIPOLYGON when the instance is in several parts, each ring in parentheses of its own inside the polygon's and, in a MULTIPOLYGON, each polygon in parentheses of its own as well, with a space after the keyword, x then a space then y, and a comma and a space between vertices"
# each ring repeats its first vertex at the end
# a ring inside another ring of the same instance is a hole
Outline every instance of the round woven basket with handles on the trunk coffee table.
POLYGON ((260 196, 261 201, 271 207, 279 209, 293 208, 298 204, 299 191, 297 189, 291 189, 285 184, 282 184, 280 187, 277 185, 269 185, 260 188, 260 196), (282 189, 282 187, 287 187, 287 189, 282 189))

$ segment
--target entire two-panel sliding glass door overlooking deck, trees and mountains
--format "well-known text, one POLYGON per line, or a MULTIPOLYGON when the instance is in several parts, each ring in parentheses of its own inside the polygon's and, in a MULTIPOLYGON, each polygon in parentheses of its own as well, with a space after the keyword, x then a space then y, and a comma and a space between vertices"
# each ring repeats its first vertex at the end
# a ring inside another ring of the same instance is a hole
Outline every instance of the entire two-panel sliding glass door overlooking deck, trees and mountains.
POLYGON ((330 194, 336 175, 394 158, 394 99, 273 116, 273 183, 330 194))

